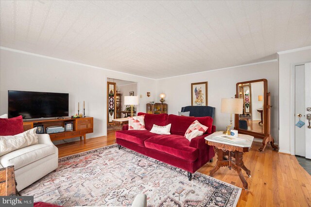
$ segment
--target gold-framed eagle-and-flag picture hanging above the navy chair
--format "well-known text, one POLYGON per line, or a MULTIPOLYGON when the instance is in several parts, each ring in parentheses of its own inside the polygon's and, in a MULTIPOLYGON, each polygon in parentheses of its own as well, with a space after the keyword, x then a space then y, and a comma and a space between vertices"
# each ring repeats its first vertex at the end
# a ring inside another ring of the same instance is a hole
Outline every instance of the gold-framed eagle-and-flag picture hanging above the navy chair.
POLYGON ((207 106, 208 82, 191 83, 191 106, 207 106))

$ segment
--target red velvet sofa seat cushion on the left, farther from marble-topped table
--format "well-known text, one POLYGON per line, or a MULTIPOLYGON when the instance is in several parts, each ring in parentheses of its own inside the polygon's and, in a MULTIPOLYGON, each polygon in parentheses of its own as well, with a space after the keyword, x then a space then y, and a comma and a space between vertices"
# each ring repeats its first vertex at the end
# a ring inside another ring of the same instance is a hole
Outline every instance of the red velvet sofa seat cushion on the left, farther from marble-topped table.
POLYGON ((116 131, 116 138, 126 140, 129 142, 137 143, 139 145, 145 145, 144 141, 150 137, 156 136, 147 130, 125 130, 116 131))

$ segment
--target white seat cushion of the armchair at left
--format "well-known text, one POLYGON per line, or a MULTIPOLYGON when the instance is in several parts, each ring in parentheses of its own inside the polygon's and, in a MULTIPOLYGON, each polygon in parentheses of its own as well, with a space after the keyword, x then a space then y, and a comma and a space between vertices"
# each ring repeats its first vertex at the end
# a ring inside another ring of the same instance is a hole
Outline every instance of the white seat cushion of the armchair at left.
POLYGON ((35 144, 1 156, 0 163, 3 167, 14 165, 17 170, 54 153, 54 145, 35 144))

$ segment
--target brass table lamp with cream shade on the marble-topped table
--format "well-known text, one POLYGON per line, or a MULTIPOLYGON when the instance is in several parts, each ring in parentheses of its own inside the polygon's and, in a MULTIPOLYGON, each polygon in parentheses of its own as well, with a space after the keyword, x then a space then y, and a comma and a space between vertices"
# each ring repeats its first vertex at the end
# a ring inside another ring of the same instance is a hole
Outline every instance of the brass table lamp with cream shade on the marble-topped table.
POLYGON ((230 113, 230 125, 223 132, 224 134, 230 135, 230 127, 232 127, 232 113, 242 114, 243 113, 243 98, 222 98, 222 113, 230 113))

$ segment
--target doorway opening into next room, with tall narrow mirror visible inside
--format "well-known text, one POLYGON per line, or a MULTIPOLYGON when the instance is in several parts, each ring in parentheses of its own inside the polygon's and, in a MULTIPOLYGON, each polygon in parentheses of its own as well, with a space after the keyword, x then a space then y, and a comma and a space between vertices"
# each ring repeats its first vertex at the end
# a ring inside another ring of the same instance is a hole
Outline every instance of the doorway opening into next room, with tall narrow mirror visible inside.
MULTIPOLYGON (((137 82, 107 78, 107 131, 121 129, 121 125, 113 120, 130 115, 130 106, 124 105, 124 96, 138 96, 137 94, 137 82)), ((134 115, 136 111, 134 107, 134 115)))

